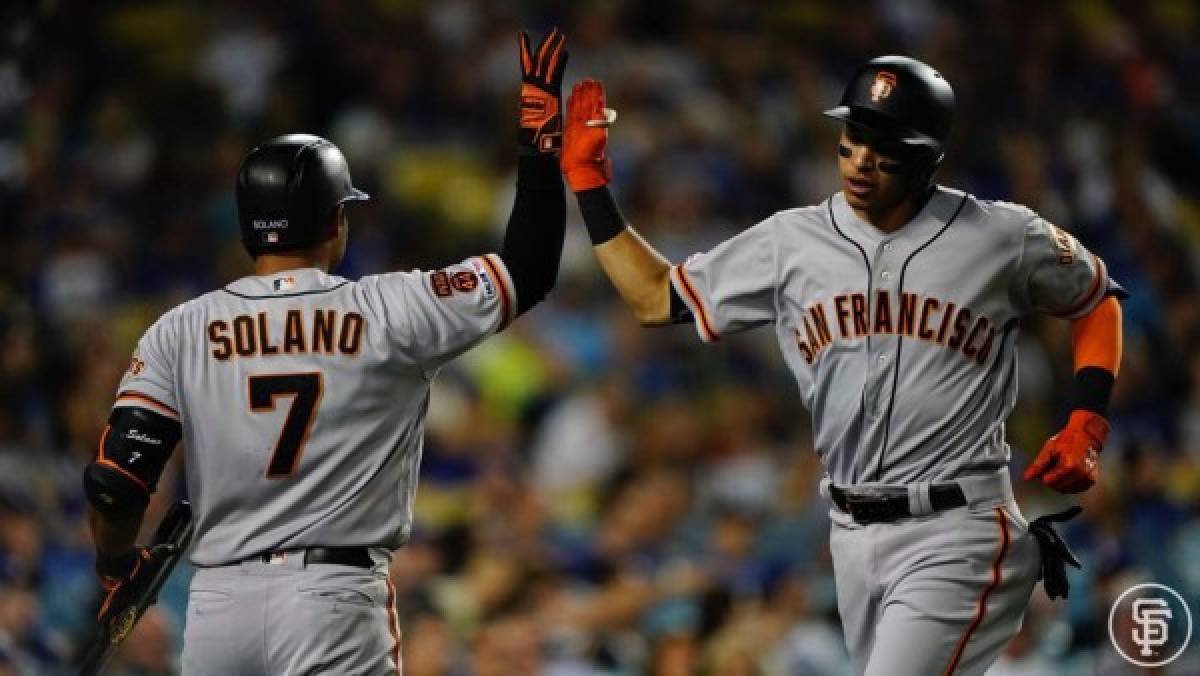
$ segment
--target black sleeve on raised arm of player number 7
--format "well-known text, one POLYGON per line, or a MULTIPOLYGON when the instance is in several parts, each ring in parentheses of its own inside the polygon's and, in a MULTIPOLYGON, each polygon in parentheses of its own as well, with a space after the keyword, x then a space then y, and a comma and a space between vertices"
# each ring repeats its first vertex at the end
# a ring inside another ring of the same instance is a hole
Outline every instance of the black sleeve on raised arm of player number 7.
POLYGON ((552 156, 517 158, 517 196, 500 258, 517 292, 517 315, 554 288, 566 233, 563 175, 552 156))

